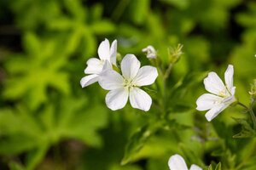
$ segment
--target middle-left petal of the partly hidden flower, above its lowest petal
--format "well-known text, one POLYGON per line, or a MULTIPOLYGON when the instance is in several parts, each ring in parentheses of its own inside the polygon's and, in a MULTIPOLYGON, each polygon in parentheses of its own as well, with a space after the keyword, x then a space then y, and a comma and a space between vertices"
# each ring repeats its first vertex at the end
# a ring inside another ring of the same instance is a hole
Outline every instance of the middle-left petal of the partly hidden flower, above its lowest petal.
POLYGON ((87 67, 84 70, 85 74, 100 74, 102 72, 103 63, 100 59, 91 58, 86 62, 87 67))

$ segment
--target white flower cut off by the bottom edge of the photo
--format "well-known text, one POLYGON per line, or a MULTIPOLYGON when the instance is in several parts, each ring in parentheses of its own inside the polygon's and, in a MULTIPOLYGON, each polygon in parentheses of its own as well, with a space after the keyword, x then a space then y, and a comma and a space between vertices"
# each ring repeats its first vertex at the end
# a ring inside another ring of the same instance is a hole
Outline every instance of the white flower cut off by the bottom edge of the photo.
POLYGON ((170 167, 170 170, 202 170, 201 167, 198 167, 195 164, 191 165, 191 167, 188 168, 183 157, 177 154, 169 158, 168 165, 170 167))

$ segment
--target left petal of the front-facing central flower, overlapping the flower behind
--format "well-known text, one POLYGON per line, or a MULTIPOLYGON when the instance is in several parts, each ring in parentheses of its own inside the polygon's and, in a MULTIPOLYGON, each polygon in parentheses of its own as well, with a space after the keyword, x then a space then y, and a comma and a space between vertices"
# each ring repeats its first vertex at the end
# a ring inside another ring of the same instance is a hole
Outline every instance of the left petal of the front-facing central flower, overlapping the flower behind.
POLYGON ((118 72, 113 70, 103 71, 99 75, 99 84, 105 90, 113 90, 117 88, 124 88, 124 78, 118 72))

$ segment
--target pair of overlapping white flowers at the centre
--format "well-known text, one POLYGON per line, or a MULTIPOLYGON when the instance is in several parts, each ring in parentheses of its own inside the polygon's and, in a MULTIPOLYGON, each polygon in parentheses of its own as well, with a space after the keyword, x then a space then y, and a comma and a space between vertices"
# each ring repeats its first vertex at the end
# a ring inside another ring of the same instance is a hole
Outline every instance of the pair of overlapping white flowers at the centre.
POLYGON ((109 90, 106 95, 106 104, 109 109, 116 111, 125 107, 128 99, 131 106, 143 111, 148 111, 152 104, 151 97, 140 87, 153 84, 158 77, 154 66, 141 67, 140 61, 134 54, 126 54, 120 64, 119 72, 113 70, 116 65, 117 41, 109 45, 108 39, 101 42, 98 48, 100 59, 91 58, 87 61, 84 70, 85 76, 81 79, 82 88, 99 82, 100 86, 109 90))

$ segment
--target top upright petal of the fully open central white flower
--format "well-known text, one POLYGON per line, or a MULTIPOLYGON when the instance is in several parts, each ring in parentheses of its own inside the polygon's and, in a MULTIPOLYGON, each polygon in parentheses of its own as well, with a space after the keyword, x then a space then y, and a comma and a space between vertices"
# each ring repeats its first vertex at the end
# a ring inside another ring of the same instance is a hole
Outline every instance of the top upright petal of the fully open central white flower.
POLYGON ((126 54, 124 59, 121 61, 121 70, 123 77, 126 79, 133 79, 137 75, 141 66, 140 61, 134 54, 126 54))

